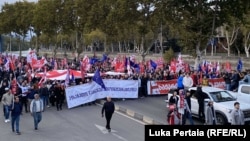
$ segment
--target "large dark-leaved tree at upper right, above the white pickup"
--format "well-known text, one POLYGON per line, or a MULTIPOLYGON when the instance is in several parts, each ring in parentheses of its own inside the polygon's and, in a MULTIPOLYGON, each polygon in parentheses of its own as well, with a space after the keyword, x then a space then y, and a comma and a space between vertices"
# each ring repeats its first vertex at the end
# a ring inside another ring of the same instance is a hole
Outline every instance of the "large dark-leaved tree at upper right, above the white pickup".
POLYGON ((165 12, 175 25, 178 36, 184 43, 182 46, 195 48, 196 65, 204 54, 208 41, 216 33, 215 29, 229 21, 229 16, 241 20, 247 0, 168 0, 165 12), (239 10, 237 10, 237 8, 239 10))

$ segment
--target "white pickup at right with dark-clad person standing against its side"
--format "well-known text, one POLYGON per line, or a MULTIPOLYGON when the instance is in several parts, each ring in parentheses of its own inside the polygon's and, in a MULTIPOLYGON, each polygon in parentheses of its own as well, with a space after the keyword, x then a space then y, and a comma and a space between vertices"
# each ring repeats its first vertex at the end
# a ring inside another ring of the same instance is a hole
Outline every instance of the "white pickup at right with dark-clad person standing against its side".
MULTIPOLYGON (((191 111, 192 115, 198 117, 199 104, 196 98, 196 88, 192 87, 189 89, 191 97, 191 111)), ((205 109, 207 107, 207 102, 214 101, 214 109, 217 116, 218 124, 225 125, 231 123, 231 112, 234 109, 234 103, 237 101, 236 97, 230 94, 229 91, 215 88, 215 87, 202 87, 202 91, 207 95, 205 99, 205 109)), ((168 93, 168 99, 172 96, 171 91, 168 93)), ((240 108, 243 110, 245 115, 245 122, 250 122, 250 103, 240 102, 240 108)), ((205 112, 206 113, 206 112, 205 112)))

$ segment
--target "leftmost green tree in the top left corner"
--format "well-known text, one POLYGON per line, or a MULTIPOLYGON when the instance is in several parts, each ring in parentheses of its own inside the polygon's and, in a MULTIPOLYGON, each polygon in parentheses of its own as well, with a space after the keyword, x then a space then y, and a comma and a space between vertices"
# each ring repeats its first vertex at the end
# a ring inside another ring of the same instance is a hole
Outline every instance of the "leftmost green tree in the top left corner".
MULTIPOLYGON (((0 14, 0 32, 3 34, 14 33, 18 39, 19 50, 24 49, 24 40, 31 27, 34 3, 18 1, 14 4, 5 3, 0 14)), ((11 46, 11 37, 10 37, 11 46)))

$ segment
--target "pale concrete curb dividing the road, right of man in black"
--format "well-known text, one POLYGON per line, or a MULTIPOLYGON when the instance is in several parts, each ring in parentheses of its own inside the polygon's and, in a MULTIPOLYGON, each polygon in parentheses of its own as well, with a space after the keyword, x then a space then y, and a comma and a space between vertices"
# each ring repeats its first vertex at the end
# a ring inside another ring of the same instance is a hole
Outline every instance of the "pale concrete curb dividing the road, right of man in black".
MULTIPOLYGON (((105 100, 97 101, 97 103, 99 103, 101 105, 103 105, 104 102, 105 102, 105 100)), ((119 106, 118 104, 115 104, 115 110, 118 112, 121 112, 123 114, 126 114, 134 119, 140 120, 148 125, 164 125, 163 123, 158 122, 158 121, 154 120, 153 118, 145 116, 145 115, 138 113, 136 111, 133 111, 131 109, 127 109, 125 107, 119 106)))

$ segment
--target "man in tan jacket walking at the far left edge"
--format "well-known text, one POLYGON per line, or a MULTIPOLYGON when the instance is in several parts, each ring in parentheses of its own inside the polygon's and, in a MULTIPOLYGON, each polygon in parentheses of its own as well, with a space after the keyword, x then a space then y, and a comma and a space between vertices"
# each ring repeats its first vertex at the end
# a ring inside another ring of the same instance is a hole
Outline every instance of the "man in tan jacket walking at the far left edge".
POLYGON ((11 90, 6 87, 5 88, 6 93, 2 97, 2 103, 4 107, 4 117, 5 117, 5 123, 10 122, 10 110, 11 110, 11 104, 13 103, 14 95, 11 93, 11 90))

